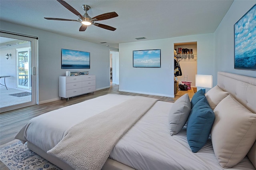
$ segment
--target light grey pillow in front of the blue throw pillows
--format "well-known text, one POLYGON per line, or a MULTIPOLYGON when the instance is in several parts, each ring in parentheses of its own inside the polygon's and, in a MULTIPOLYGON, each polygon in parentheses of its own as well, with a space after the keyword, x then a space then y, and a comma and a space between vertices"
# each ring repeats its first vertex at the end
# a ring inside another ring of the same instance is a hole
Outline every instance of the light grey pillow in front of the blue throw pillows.
POLYGON ((191 111, 191 103, 188 94, 177 99, 169 113, 170 134, 174 135, 180 132, 188 120, 191 111))

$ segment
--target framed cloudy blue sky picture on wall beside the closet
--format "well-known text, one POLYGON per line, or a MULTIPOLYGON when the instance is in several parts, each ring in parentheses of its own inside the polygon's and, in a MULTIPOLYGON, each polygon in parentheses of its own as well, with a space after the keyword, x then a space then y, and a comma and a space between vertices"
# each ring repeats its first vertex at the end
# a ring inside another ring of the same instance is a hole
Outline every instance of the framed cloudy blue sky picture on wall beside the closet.
POLYGON ((133 51, 133 67, 161 67, 161 49, 133 51))

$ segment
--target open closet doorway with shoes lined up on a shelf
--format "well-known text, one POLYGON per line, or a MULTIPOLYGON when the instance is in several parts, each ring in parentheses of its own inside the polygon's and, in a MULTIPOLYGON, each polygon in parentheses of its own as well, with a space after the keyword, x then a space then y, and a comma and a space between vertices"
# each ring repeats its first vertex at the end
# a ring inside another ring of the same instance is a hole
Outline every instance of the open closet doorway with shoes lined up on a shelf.
POLYGON ((176 91, 175 95, 194 94, 197 74, 197 42, 174 43, 174 49, 177 51, 176 58, 182 72, 181 76, 175 77, 174 75, 174 78, 178 79, 178 82, 182 81, 190 84, 188 91, 176 91))

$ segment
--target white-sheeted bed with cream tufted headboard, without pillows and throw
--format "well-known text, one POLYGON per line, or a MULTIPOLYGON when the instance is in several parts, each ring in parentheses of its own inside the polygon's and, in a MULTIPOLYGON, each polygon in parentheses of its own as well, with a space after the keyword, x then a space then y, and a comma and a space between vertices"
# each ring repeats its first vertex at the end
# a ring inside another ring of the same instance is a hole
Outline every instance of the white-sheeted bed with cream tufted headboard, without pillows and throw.
MULTIPOLYGON (((256 113, 256 78, 219 72, 218 86, 229 92, 252 113, 256 113)), ((30 150, 62 169, 83 169, 81 167, 74 168, 74 166, 72 168, 66 161, 47 154, 47 151, 54 148, 74 125, 130 99, 133 97, 109 94, 45 113, 32 119, 20 130, 16 138, 22 142, 27 141, 30 150)), ((173 105, 174 103, 157 101, 118 140, 102 169, 225 169, 220 166, 219 160, 214 154, 210 138, 202 149, 193 153, 188 144, 186 128, 176 135, 170 135, 168 115, 173 105)), ((256 129, 253 135, 256 136, 256 129)), ((229 169, 255 169, 256 143, 248 155, 250 155, 250 160, 246 156, 229 169)))

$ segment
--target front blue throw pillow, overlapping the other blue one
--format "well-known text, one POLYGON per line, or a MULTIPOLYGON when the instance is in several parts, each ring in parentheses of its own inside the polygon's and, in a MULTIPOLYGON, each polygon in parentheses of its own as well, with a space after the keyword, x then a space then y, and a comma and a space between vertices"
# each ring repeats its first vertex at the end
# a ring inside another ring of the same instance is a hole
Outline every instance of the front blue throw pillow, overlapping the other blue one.
POLYGON ((192 152, 198 152, 207 142, 215 115, 206 97, 192 108, 187 122, 187 139, 192 152))

